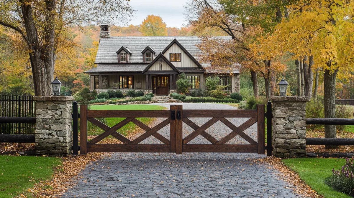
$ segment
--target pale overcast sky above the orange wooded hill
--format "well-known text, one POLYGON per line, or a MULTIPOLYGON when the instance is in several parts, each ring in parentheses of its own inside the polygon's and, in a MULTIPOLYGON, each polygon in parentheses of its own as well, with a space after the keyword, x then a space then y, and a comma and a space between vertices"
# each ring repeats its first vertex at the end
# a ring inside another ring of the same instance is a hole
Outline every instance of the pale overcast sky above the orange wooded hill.
POLYGON ((149 14, 160 15, 167 27, 181 28, 184 21, 183 6, 187 0, 130 0, 129 4, 136 10, 134 18, 128 24, 139 25, 149 14))

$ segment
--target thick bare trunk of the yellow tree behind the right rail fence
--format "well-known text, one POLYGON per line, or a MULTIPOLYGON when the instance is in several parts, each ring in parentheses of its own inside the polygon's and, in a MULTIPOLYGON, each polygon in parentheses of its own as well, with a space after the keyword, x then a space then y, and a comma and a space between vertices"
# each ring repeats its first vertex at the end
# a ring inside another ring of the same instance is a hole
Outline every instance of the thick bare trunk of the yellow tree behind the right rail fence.
MULTIPOLYGON (((331 67, 330 63, 328 63, 331 67)), ((324 90, 325 90, 325 118, 336 117, 336 77, 338 70, 330 73, 329 70, 324 72, 324 90)), ((336 125, 325 125, 325 138, 337 138, 336 125)), ((326 145, 327 149, 338 148, 338 146, 326 145)))

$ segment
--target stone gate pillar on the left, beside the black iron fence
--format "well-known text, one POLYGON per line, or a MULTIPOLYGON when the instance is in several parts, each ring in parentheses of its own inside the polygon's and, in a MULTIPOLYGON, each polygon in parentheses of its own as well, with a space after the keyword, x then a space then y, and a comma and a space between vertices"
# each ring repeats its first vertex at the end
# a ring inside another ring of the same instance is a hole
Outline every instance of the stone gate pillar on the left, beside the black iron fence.
POLYGON ((38 155, 69 155, 72 148, 72 96, 34 96, 38 155))

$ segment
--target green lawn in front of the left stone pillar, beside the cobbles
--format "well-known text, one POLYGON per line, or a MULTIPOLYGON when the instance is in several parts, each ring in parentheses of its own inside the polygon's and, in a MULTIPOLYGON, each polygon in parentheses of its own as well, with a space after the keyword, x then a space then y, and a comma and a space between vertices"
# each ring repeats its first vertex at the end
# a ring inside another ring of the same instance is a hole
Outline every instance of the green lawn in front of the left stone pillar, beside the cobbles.
POLYGON ((55 157, 0 156, 0 197, 26 192, 35 182, 50 178, 59 164, 61 158, 55 157))

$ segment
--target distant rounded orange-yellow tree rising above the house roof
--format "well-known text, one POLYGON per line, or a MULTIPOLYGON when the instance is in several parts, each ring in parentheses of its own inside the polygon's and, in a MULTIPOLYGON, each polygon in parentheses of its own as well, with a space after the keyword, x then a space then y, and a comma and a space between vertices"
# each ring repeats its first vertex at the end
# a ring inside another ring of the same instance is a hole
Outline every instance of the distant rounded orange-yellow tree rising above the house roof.
POLYGON ((140 25, 140 31, 144 36, 167 36, 166 23, 160 16, 148 15, 140 25))

